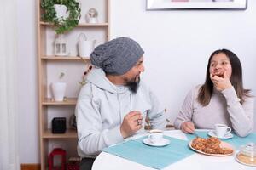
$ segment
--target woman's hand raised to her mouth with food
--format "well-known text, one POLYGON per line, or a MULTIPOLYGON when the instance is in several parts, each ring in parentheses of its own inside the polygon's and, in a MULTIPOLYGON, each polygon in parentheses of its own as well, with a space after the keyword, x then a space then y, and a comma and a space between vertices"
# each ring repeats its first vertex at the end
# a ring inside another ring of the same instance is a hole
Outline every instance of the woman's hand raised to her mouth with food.
POLYGON ((232 84, 230 82, 230 78, 227 76, 226 71, 224 71, 224 75, 222 77, 218 76, 218 75, 210 74, 210 78, 213 82, 214 87, 218 91, 223 91, 226 88, 232 87, 232 84))

